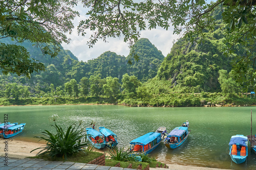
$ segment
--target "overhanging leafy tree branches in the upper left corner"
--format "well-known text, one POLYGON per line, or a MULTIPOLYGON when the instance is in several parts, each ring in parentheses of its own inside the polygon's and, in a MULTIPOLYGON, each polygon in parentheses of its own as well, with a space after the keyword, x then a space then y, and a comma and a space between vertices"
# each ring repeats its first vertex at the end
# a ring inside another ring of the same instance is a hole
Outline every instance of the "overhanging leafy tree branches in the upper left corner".
MULTIPOLYGON (((74 5, 73 0, 0 1, 0 38, 11 37, 20 43, 29 40, 43 54, 55 57, 59 44, 69 42, 65 33, 71 33, 72 20, 78 15, 74 5)), ((33 71, 44 70, 45 66, 30 58, 26 48, 1 43, 0 68, 4 74, 15 72, 30 77, 33 71)))

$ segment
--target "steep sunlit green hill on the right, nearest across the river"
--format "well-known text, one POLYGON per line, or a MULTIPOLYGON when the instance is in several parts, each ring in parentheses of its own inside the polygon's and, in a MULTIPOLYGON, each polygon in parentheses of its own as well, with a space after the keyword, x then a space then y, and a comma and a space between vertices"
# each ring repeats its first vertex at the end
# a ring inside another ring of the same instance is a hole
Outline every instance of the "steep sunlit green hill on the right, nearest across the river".
POLYGON ((231 70, 231 59, 221 52, 223 37, 219 24, 216 30, 205 31, 202 43, 191 43, 181 38, 164 59, 157 80, 169 81, 172 91, 221 91, 219 70, 231 70))

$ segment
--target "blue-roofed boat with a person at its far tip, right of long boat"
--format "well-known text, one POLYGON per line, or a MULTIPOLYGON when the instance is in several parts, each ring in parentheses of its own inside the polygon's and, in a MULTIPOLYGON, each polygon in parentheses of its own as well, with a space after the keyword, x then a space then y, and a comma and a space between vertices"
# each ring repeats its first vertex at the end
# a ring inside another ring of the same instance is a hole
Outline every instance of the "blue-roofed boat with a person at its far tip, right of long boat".
POLYGON ((189 133, 188 127, 176 127, 167 135, 164 144, 169 149, 178 148, 186 141, 189 133))

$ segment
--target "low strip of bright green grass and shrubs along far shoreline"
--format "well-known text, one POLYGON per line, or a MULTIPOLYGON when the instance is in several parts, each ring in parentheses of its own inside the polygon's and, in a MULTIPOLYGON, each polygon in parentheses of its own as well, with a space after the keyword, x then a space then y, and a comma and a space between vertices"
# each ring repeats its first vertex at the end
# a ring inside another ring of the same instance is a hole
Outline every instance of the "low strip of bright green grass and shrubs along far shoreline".
POLYGON ((48 98, 29 98, 29 99, 0 99, 0 106, 12 105, 63 105, 63 104, 121 104, 126 106, 141 106, 141 107, 194 107, 194 106, 250 106, 256 105, 256 98, 248 95, 239 96, 237 94, 222 94, 222 93, 192 93, 192 94, 161 94, 147 96, 146 98, 127 99, 120 95, 117 99, 99 98, 99 97, 48 97, 48 98))

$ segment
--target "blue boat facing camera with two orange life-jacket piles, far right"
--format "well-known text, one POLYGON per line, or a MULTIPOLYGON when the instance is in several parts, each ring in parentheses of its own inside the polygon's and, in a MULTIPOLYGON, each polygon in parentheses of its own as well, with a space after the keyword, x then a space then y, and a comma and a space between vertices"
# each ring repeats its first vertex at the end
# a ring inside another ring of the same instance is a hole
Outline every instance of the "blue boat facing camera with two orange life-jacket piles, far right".
POLYGON ((229 155, 237 164, 245 162, 248 156, 248 141, 244 135, 234 135, 228 143, 229 155))

